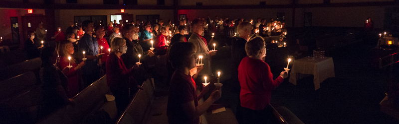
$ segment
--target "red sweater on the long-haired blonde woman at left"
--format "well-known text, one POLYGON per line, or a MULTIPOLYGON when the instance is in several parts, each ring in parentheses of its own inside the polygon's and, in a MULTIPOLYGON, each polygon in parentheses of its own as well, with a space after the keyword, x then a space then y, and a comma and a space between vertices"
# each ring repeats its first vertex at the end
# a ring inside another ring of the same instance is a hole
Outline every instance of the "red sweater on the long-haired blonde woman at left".
MULTIPOLYGON (((62 70, 68 65, 69 65, 68 57, 60 57, 59 68, 62 70)), ((72 65, 72 68, 69 70, 68 73, 65 74, 65 76, 68 77, 68 92, 67 92, 68 98, 72 98, 80 92, 79 91, 79 73, 78 73, 78 70, 75 70, 75 67, 78 66, 78 64, 76 64, 75 62, 73 62, 71 60, 71 65, 72 65)))

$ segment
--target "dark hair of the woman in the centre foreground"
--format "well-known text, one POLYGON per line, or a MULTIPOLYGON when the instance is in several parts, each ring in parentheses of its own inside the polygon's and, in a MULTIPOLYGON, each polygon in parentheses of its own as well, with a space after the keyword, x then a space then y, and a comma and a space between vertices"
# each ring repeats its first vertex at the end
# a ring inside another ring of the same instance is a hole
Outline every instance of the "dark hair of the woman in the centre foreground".
POLYGON ((195 51, 194 45, 191 42, 177 42, 171 46, 169 50, 169 61, 172 63, 173 68, 178 69, 185 66, 188 58, 195 51))

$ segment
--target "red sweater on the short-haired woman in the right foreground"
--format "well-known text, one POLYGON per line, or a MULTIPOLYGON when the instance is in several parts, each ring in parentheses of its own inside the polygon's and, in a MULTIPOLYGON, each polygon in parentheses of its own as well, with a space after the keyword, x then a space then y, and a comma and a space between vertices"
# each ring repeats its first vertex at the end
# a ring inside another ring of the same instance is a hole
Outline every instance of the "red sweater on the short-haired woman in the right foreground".
POLYGON ((283 82, 281 76, 273 80, 266 62, 249 57, 242 59, 238 66, 238 80, 241 106, 252 110, 264 109, 270 103, 271 92, 283 82))

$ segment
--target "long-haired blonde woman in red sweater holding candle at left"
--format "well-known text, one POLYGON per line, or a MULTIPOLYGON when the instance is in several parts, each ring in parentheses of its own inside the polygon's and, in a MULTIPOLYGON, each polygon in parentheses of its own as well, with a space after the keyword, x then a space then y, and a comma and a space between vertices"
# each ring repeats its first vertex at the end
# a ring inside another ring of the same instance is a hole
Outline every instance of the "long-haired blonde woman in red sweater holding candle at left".
POLYGON ((70 65, 72 68, 70 68, 68 73, 65 73, 65 75, 68 77, 68 93, 67 96, 68 98, 74 97, 76 94, 78 94, 82 89, 80 87, 80 68, 84 66, 85 62, 82 61, 79 64, 77 64, 76 60, 72 57, 72 54, 74 53, 74 47, 72 43, 69 40, 62 40, 60 41, 58 45, 58 53, 60 56, 59 59, 59 68, 65 68, 66 66, 70 65), (71 57, 71 60, 68 60, 68 57, 71 57))

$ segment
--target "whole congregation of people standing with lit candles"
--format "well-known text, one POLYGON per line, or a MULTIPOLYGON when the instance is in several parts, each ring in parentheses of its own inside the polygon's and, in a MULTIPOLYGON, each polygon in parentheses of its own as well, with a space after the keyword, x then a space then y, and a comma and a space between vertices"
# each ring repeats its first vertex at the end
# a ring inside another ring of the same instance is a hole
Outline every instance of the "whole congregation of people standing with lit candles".
MULTIPOLYGON (((283 36, 285 23, 273 19, 196 18, 192 21, 159 19, 158 22, 124 23, 110 21, 106 27, 91 20, 79 26, 69 22, 65 32, 57 27, 54 32, 56 47, 42 46, 46 32, 42 24, 36 31, 26 32, 28 40, 24 51, 28 59, 40 57, 40 80, 45 94, 46 110, 54 111, 74 104, 73 97, 106 75, 117 112, 121 115, 141 84, 152 78, 151 65, 157 56, 167 57, 169 99, 167 116, 169 124, 199 124, 200 115, 221 97, 221 88, 209 91, 208 85, 198 83, 204 76, 212 76, 211 61, 217 51, 212 44, 223 44, 213 37, 223 36, 231 41, 231 79, 237 85, 239 106, 236 118, 240 124, 261 124, 273 116, 270 108, 273 89, 287 78, 282 71, 273 79, 265 62, 264 37, 283 36), (205 32, 212 35, 207 41, 205 32), (202 57, 199 59, 199 57, 202 57), (203 65, 197 64, 201 61, 203 65), (197 82, 197 83, 196 83, 197 82), (198 95, 197 91, 200 90, 198 95), (211 92, 202 104, 199 100, 211 92)), ((202 82, 202 81, 201 81, 202 82)))

